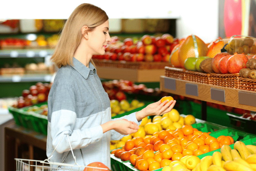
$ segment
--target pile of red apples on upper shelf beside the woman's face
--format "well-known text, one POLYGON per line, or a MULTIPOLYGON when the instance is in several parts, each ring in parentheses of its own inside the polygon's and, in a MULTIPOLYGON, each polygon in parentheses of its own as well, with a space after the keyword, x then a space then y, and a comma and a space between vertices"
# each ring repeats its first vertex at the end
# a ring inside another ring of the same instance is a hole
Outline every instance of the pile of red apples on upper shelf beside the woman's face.
POLYGON ((94 55, 93 58, 112 61, 168 62, 172 48, 179 43, 179 39, 174 39, 168 33, 158 37, 144 35, 140 41, 126 38, 122 42, 117 36, 111 39, 111 43, 105 49, 105 55, 94 55))

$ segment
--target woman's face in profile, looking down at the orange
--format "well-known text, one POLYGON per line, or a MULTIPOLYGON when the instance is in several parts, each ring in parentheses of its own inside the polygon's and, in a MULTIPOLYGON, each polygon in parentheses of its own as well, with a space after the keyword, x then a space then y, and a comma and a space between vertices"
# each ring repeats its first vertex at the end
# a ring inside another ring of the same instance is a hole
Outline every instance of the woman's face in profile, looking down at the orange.
POLYGON ((92 49, 92 55, 104 55, 107 44, 111 41, 108 33, 108 20, 95 27, 92 32, 89 32, 88 45, 92 49))

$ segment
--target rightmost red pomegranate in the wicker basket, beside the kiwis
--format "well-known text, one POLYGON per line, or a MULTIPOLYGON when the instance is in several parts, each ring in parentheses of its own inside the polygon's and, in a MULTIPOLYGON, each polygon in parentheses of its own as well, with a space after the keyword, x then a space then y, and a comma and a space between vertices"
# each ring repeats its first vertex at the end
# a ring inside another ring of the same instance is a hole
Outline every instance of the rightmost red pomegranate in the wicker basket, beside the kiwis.
POLYGON ((246 68, 248 58, 244 54, 234 54, 228 58, 227 68, 231 74, 239 73, 243 68, 246 68))

